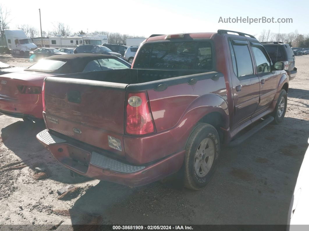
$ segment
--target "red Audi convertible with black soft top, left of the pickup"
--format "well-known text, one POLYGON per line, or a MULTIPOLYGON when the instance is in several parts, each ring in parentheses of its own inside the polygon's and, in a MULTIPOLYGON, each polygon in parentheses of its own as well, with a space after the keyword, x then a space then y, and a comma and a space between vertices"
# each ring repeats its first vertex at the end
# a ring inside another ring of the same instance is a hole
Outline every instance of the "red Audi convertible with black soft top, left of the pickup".
POLYGON ((124 68, 131 68, 131 65, 110 55, 74 54, 44 58, 23 71, 0 76, 0 113, 36 122, 43 119, 45 77, 124 68))

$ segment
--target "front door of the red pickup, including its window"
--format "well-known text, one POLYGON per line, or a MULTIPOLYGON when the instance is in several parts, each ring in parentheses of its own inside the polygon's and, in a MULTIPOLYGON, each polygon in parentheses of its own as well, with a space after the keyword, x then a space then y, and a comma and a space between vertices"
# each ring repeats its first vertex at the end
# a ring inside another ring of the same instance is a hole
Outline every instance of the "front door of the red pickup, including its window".
MULTIPOLYGON (((260 43, 250 42, 255 60, 255 68, 257 76, 260 80, 260 103, 254 115, 267 110, 277 92, 278 74, 276 71, 270 71, 271 60, 260 43)), ((253 116, 254 116, 253 115, 253 116)))

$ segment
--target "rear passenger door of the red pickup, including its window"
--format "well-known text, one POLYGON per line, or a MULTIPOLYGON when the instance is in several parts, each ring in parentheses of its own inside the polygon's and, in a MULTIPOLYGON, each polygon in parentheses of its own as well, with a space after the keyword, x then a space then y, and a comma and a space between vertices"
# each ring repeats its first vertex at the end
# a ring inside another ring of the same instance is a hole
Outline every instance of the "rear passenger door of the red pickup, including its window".
POLYGON ((247 40, 229 39, 234 95, 234 128, 249 120, 260 97, 260 80, 255 74, 247 40))

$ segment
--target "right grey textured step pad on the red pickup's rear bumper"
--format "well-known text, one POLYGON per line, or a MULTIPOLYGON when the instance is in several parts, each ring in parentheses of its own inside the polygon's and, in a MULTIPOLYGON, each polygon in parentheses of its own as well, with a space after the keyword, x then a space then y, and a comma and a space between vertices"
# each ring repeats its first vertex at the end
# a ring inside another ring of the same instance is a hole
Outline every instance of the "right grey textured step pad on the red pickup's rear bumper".
POLYGON ((92 152, 90 163, 108 170, 122 173, 137 172, 145 168, 145 166, 133 166, 126 163, 122 163, 120 161, 108 158, 104 155, 100 155, 99 153, 96 152, 92 152))

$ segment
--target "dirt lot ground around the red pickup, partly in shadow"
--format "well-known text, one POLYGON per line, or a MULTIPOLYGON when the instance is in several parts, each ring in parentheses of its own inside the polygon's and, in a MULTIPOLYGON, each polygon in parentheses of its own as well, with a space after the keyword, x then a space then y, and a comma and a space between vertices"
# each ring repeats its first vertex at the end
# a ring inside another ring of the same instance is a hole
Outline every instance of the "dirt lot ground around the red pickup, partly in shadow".
MULTIPOLYGON (((0 61, 30 66, 27 59, 0 61)), ((193 192, 172 182, 129 188, 88 178, 71 178, 36 140, 43 124, 0 115, 0 224, 40 229, 71 224, 286 224, 291 195, 309 136, 309 55, 297 56, 286 118, 268 125, 240 146, 222 147, 210 184, 193 192), (33 168, 46 167, 45 179, 33 168), (77 193, 58 199, 74 184, 77 193), (62 223, 61 223, 62 222, 62 223)), ((1 228, 0 225, 0 228, 1 228)))

